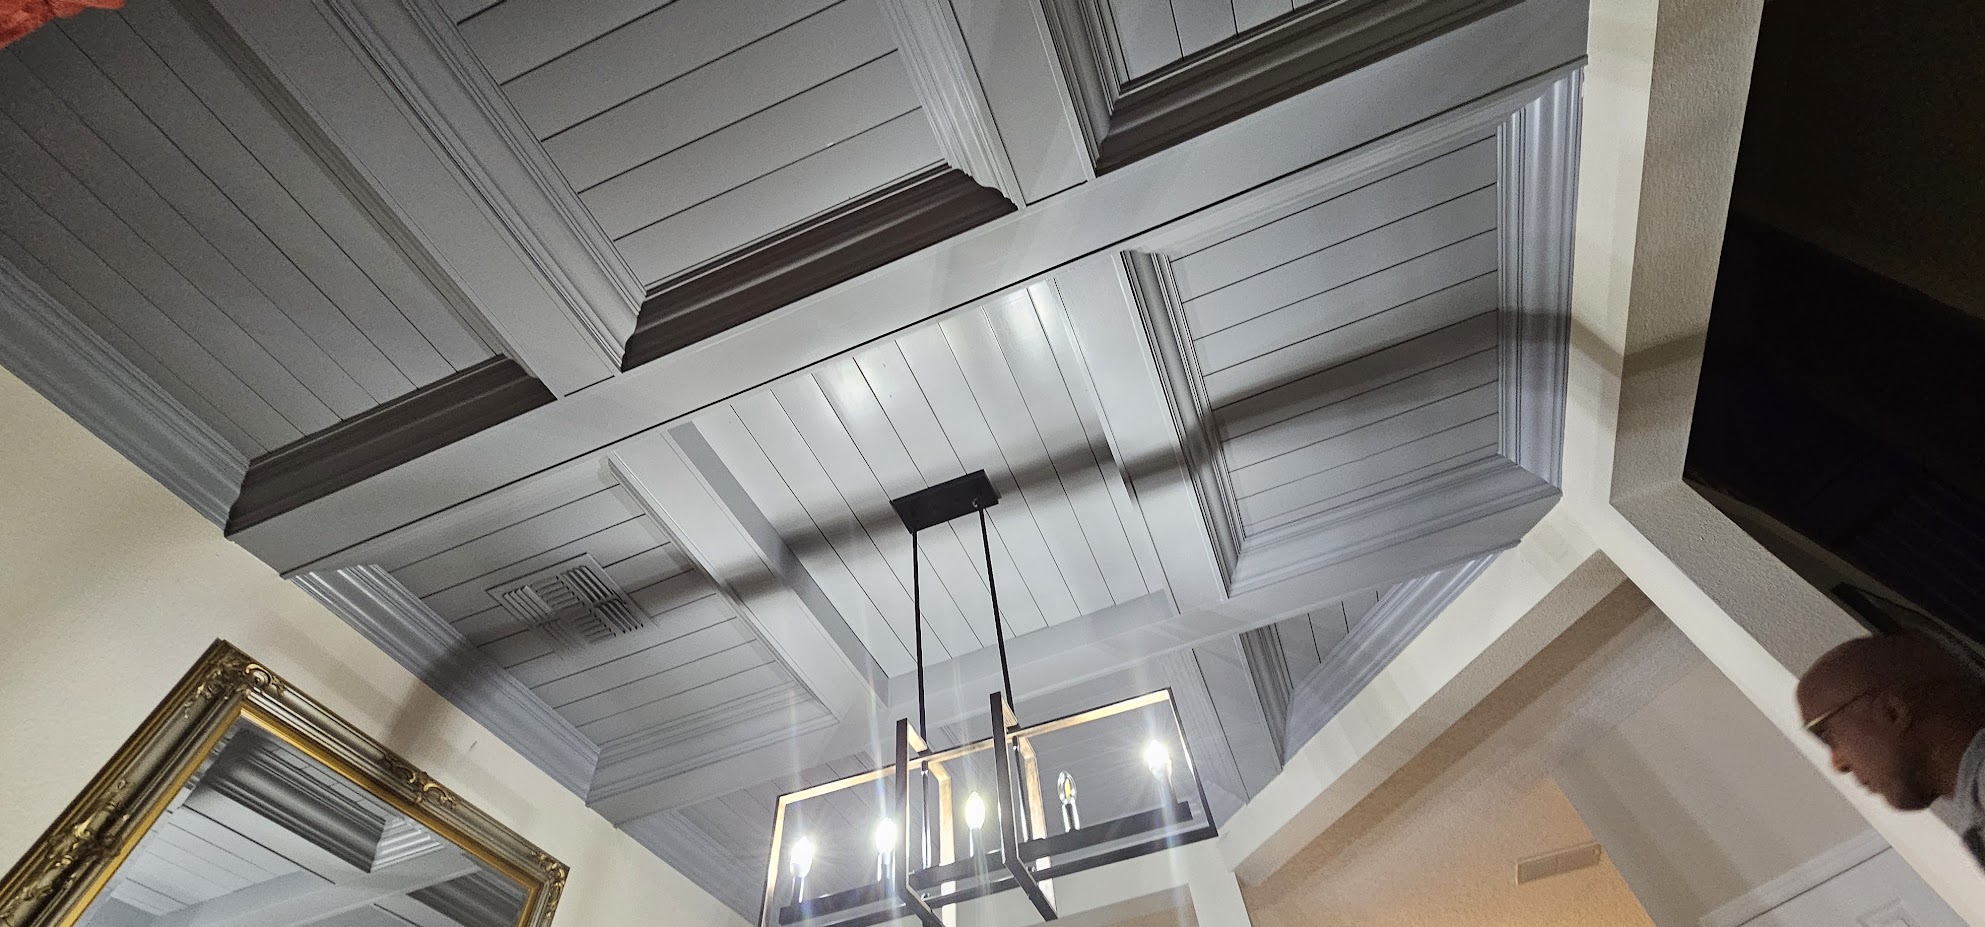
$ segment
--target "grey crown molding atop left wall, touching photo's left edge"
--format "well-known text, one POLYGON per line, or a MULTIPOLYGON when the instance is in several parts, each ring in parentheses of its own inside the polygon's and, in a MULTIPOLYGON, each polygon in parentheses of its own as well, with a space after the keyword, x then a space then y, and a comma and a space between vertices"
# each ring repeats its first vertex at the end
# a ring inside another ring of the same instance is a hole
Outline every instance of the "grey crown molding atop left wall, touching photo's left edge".
POLYGON ((248 457, 0 258, 0 363, 214 524, 248 457))

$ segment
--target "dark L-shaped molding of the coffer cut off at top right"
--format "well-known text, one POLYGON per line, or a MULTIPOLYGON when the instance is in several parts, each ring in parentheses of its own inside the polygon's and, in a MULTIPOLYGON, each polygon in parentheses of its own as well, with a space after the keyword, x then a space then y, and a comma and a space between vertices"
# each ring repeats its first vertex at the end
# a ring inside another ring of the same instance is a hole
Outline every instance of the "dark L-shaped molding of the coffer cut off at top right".
POLYGON ((1193 135, 1342 77, 1517 0, 1326 0, 1296 8, 1133 81, 1114 79, 1104 0, 1054 0, 1064 67, 1086 85, 1096 173, 1116 171, 1193 135), (1080 71, 1080 73, 1076 73, 1080 71), (1100 123, 1100 125, 1098 125, 1100 123))

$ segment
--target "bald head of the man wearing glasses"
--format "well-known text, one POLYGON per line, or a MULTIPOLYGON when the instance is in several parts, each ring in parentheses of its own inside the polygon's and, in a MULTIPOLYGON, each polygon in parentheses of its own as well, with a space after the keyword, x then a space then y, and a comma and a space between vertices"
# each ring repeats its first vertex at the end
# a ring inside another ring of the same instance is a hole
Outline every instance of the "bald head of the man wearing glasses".
POLYGON ((1798 711, 1834 768, 1902 810, 1949 794, 1985 695, 1949 651, 1910 635, 1846 641, 1798 679, 1798 711), (1949 768, 1945 768, 1949 766, 1949 768))

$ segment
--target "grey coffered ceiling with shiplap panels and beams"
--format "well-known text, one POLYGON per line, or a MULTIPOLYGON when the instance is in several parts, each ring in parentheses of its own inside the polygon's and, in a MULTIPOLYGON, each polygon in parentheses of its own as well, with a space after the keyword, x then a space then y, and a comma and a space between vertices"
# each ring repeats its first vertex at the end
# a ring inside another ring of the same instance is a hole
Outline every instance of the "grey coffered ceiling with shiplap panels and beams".
POLYGON ((1004 635, 1028 719, 1171 687, 1225 820, 1556 500, 1584 34, 93 10, 0 54, 0 361, 740 913, 919 588, 933 742, 1004 635))

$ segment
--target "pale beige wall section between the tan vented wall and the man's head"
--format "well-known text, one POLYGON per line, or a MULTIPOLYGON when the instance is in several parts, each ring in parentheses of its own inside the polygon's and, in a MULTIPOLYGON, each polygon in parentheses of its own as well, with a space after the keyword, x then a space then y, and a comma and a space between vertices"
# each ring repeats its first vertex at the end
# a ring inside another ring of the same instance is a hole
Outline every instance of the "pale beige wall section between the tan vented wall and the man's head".
POLYGON ((1868 822, 1709 663, 1560 766, 1648 915, 1693 927, 1868 822))

